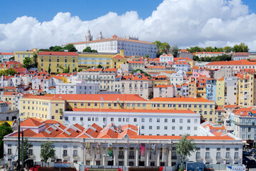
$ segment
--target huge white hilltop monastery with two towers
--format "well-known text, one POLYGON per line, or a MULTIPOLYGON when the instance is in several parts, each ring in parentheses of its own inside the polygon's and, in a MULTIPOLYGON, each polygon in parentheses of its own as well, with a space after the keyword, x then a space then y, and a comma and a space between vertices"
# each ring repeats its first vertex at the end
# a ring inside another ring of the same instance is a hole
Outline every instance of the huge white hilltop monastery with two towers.
POLYGON ((93 40, 91 32, 88 31, 86 41, 71 43, 78 52, 83 52, 83 49, 90 46, 101 53, 120 53, 120 50, 125 50, 125 56, 146 56, 155 58, 156 45, 149 41, 139 41, 138 38, 126 37, 120 38, 116 35, 111 38, 103 38, 102 34, 98 36, 97 40, 93 40))

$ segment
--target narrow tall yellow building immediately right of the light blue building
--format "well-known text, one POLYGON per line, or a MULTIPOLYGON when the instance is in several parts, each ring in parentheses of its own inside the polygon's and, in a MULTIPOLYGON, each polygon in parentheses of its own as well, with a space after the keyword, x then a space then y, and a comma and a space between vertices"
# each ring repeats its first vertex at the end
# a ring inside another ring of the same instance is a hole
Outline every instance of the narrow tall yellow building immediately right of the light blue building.
POLYGON ((224 77, 216 83, 216 105, 225 105, 225 81, 224 77))

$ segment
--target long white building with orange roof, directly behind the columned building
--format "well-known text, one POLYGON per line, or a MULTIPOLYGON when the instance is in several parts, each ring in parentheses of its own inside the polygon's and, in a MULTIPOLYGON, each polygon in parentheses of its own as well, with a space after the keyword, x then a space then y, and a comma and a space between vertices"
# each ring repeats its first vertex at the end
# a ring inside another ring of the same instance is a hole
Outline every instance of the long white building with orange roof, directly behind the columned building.
MULTIPOLYGON (((199 113, 191 110, 136 110, 135 103, 129 105, 130 109, 122 110, 73 108, 63 113, 63 124, 90 126, 97 123, 103 128, 111 123, 132 124, 138 126, 140 135, 200 135, 199 113)), ((145 103, 141 105, 145 106, 145 103)))

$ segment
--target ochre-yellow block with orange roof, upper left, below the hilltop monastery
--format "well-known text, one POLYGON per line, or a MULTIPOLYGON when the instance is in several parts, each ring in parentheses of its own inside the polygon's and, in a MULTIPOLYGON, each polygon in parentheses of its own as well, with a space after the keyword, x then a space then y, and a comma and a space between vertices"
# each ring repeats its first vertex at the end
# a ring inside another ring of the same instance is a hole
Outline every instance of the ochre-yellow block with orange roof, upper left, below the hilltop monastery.
POLYGON ((59 51, 41 51, 38 53, 38 71, 48 71, 51 73, 62 73, 69 67, 69 73, 78 71, 78 53, 59 52, 59 51))

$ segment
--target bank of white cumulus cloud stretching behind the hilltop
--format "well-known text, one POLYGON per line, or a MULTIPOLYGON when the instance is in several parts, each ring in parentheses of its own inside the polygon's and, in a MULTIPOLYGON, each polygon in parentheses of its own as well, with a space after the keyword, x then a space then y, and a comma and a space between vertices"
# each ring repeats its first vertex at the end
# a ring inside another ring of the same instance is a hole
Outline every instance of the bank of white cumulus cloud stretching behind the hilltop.
POLYGON ((84 41, 88 28, 93 37, 138 36, 145 41, 166 41, 179 47, 233 46, 245 42, 256 50, 256 15, 241 0, 164 0, 146 19, 136 11, 109 12, 91 21, 58 13, 39 22, 22 16, 0 24, 0 51, 24 51, 84 41))

